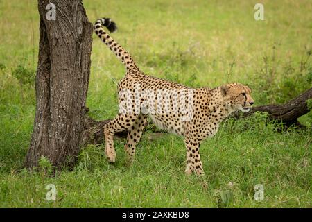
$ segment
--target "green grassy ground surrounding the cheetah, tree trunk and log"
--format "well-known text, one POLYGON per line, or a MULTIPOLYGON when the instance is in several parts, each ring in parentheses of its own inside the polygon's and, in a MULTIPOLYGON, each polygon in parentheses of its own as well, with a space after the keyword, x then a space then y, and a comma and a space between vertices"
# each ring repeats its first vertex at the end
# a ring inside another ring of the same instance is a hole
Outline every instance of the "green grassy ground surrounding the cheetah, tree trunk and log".
MULTIPOLYGON (((91 22, 115 20, 119 31, 113 37, 148 74, 192 87, 245 83, 256 105, 283 103, 311 87, 311 2, 261 1, 265 20, 255 21, 257 2, 84 4, 91 22)), ((36 7, 36 1, 0 1, 0 207, 312 207, 311 113, 300 118, 306 130, 283 133, 261 114, 229 119, 201 146, 203 178, 184 176, 182 138, 155 138, 148 130, 130 168, 118 141, 116 164, 107 163, 103 146, 88 146, 75 169, 56 178, 17 172, 35 112, 36 7), (46 200, 49 184, 56 186, 56 201, 46 200), (264 187, 262 201, 254 200, 257 184, 264 187)), ((92 117, 117 113, 116 82, 124 73, 94 35, 87 98, 92 117)))

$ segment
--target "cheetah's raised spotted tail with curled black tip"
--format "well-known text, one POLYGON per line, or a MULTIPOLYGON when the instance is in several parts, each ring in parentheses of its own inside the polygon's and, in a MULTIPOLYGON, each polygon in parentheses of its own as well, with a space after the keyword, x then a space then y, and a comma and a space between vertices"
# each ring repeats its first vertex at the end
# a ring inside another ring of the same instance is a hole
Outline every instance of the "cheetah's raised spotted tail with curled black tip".
POLYGON ((105 26, 111 33, 114 33, 114 31, 117 30, 116 23, 110 18, 97 19, 93 26, 94 32, 110 48, 110 50, 115 53, 116 57, 123 62, 127 69, 137 68, 137 65, 135 65, 130 54, 105 32, 103 26, 105 26))

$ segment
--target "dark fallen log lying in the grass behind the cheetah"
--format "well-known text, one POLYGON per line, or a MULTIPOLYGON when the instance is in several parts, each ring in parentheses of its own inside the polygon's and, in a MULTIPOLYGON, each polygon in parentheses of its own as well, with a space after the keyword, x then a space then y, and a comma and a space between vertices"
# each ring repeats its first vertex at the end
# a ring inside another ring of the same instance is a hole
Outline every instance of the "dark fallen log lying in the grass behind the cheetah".
MULTIPOLYGON (((285 124, 285 126, 295 125, 297 127, 303 127, 299 121, 297 121, 297 118, 310 111, 306 102, 308 99, 312 99, 312 88, 283 105, 261 105, 252 108, 250 112, 245 112, 243 114, 241 114, 241 112, 235 112, 231 116, 234 118, 241 118, 248 117, 257 111, 267 112, 270 119, 281 121, 285 124)), ((105 124, 110 121, 111 119, 96 121, 90 117, 87 117, 85 119, 83 146, 86 146, 87 144, 102 144, 104 142, 103 128, 105 124)), ((159 130, 157 130, 155 126, 152 126, 152 130, 153 132, 159 133, 159 130)), ((125 138, 127 137, 127 131, 124 130, 120 133, 117 133, 115 136, 125 138)))

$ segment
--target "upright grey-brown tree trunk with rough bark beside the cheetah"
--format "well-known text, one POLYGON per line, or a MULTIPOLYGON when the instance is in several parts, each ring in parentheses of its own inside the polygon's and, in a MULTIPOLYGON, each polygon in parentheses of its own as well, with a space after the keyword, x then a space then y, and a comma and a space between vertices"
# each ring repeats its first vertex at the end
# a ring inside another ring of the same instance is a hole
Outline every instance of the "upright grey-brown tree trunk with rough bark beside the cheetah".
POLYGON ((92 24, 81 0, 38 0, 38 10, 37 105, 25 167, 37 167, 41 156, 58 168, 72 166, 85 128, 92 24), (55 20, 46 17, 49 3, 56 6, 55 20))

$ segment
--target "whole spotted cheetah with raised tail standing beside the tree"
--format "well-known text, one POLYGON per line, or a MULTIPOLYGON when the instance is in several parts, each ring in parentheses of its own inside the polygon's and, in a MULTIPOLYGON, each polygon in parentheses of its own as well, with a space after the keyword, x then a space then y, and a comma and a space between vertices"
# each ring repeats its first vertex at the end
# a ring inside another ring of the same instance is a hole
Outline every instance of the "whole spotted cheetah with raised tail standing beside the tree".
POLYGON ((118 84, 119 114, 104 127, 105 155, 115 162, 114 134, 128 130, 124 147, 127 162, 135 157, 135 147, 150 116, 156 126, 184 137, 187 149, 185 173, 204 175, 200 161, 200 142, 214 136, 219 124, 236 110, 248 112, 254 104, 251 89, 229 83, 209 89, 191 88, 144 74, 128 51, 105 32, 116 31, 110 18, 97 19, 94 32, 125 65, 126 74, 118 84))

